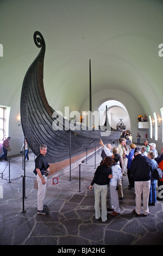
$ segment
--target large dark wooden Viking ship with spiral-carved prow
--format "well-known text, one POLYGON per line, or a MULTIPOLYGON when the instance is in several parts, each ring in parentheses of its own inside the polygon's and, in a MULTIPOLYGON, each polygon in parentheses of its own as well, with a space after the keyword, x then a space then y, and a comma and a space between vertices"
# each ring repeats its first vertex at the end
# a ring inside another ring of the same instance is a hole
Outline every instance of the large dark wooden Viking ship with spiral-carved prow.
MULTIPOLYGON (((54 109, 49 106, 43 86, 43 62, 45 57, 45 40, 40 32, 34 33, 35 45, 41 48, 39 54, 29 66, 24 76, 21 92, 21 124, 24 137, 35 155, 40 153, 40 145, 47 145, 46 159, 49 163, 60 162, 71 156, 77 156, 95 147, 95 141, 103 139, 111 143, 120 138, 119 132, 108 131, 106 122, 104 131, 81 128, 81 124, 72 124, 70 120, 57 115, 58 123, 63 127, 53 127, 54 109), (79 127, 80 126, 80 127, 79 127), (102 137, 101 133, 105 136, 102 137)), ((108 123, 109 124, 109 123, 108 123)))

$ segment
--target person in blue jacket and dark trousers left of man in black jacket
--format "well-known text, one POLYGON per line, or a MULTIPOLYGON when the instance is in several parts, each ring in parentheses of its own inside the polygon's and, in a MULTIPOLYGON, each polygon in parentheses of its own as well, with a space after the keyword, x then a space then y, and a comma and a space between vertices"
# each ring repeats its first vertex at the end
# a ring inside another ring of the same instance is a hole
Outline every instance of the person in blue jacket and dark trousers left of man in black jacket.
POLYGON ((136 148, 136 145, 134 143, 131 143, 130 148, 131 148, 131 151, 130 151, 129 155, 124 155, 124 157, 128 159, 127 175, 128 175, 128 181, 129 181, 129 188, 128 188, 129 190, 134 187, 134 179, 132 178, 131 173, 130 173, 130 166, 131 166, 131 162, 134 157, 134 149, 136 148))

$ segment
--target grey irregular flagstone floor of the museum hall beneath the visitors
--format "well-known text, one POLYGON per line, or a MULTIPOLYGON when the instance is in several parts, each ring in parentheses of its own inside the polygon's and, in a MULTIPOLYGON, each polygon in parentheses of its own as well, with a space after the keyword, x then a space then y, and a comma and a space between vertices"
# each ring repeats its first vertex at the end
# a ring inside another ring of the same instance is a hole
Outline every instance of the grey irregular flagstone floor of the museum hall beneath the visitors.
MULTIPOLYGON (((45 204, 49 214, 36 214, 37 190, 34 188, 34 155, 26 161, 26 199, 22 212, 22 159, 10 161, 10 181, 7 162, 0 162, 0 245, 162 245, 162 202, 150 206, 151 215, 135 217, 134 190, 128 190, 128 178, 122 185, 124 199, 120 200, 121 215, 102 222, 95 219, 94 191, 89 185, 95 173, 95 157, 81 165, 79 191, 79 166, 67 173, 49 176, 45 204), (5 168, 6 167, 6 168, 5 168), (53 185, 53 178, 58 184, 53 185), (2 193, 3 190, 3 193, 2 193)), ((96 155, 96 167, 101 156, 96 155)), ((127 161, 126 161, 127 163, 127 161)), ((109 206, 109 195, 108 195, 109 206)))

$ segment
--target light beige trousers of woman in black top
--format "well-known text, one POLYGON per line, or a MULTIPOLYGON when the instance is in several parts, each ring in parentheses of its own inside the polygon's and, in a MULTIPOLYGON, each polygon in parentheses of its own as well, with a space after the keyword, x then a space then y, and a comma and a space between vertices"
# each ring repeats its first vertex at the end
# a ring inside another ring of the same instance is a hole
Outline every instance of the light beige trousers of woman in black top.
POLYGON ((108 185, 97 185, 94 186, 95 190, 95 218, 102 218, 102 221, 107 220, 107 206, 106 196, 108 194, 108 185), (101 198, 101 211, 100 211, 100 198, 101 198))

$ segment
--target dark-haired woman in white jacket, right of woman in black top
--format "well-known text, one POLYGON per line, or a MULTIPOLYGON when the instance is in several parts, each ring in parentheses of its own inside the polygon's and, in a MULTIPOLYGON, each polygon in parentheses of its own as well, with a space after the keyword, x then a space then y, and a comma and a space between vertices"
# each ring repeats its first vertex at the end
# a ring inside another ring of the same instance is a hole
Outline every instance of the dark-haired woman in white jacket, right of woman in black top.
POLYGON ((110 209, 114 210, 111 215, 117 216, 120 215, 120 205, 118 199, 118 190, 116 190, 118 185, 118 180, 122 178, 122 169, 120 167, 120 155, 114 154, 112 155, 114 158, 114 163, 111 166, 112 169, 112 178, 110 179, 110 209))

